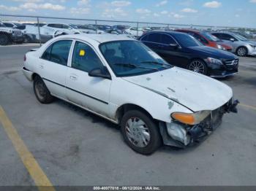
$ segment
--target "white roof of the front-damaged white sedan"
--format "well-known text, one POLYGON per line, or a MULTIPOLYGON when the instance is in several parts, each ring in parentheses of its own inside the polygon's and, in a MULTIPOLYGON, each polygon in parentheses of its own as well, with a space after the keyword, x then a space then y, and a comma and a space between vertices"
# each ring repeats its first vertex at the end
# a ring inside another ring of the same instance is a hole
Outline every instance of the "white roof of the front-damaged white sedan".
POLYGON ((119 41, 119 40, 135 40, 135 39, 131 39, 127 36, 119 36, 119 35, 114 35, 114 34, 71 34, 71 35, 58 36, 56 38, 80 39, 80 40, 84 40, 84 41, 93 40, 94 42, 97 42, 97 43, 112 42, 112 41, 119 41))

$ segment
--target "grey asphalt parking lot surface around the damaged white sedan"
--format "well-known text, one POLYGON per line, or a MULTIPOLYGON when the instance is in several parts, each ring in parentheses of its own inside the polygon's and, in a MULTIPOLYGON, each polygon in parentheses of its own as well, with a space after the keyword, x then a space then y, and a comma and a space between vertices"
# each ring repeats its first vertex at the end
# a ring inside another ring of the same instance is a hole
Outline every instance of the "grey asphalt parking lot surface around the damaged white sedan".
MULTIPOLYGON (((256 58, 218 79, 233 88, 238 114, 195 147, 143 156, 111 122, 58 99, 39 104, 20 71, 34 47, 0 47, 0 106, 53 185, 256 185, 256 58)), ((34 185, 12 141, 0 122, 0 185, 34 185)))

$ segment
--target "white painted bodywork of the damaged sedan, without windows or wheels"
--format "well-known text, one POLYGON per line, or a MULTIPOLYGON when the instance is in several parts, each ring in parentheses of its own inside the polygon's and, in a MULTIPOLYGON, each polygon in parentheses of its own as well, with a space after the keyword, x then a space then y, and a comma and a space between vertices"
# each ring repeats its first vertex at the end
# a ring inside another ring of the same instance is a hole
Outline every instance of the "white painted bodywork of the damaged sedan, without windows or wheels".
POLYGON ((176 67, 135 77, 116 77, 99 50, 99 44, 102 42, 116 40, 134 39, 102 34, 56 37, 43 44, 37 51, 26 54, 26 70, 23 69, 23 73, 28 79, 32 79, 31 75, 36 73, 42 78, 52 80, 55 84, 44 79, 53 95, 116 123, 117 109, 124 104, 135 104, 145 109, 154 119, 171 122, 170 114, 173 112, 192 113, 217 109, 233 96, 230 87, 222 82, 176 67), (59 39, 75 39, 89 44, 102 64, 107 67, 112 79, 89 77, 85 71, 72 69, 72 51, 69 52, 69 67, 42 60, 40 56, 48 45, 59 39))

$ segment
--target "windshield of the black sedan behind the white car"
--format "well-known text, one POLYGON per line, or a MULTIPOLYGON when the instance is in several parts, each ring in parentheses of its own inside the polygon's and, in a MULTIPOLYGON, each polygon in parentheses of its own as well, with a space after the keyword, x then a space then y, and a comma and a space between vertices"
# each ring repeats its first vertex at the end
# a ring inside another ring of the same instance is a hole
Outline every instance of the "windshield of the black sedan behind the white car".
POLYGON ((202 43, 197 41, 193 36, 190 36, 188 34, 183 33, 176 33, 173 34, 173 36, 176 38, 178 43, 180 43, 183 47, 198 47, 203 46, 202 43))

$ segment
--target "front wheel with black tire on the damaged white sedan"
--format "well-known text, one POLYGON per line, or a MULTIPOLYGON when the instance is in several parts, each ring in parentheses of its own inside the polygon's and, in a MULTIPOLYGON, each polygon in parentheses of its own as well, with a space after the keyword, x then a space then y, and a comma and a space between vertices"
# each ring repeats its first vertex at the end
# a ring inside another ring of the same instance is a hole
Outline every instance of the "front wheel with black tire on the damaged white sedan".
POLYGON ((162 143, 157 125, 151 117, 138 110, 130 110, 124 114, 121 133, 128 146, 143 155, 151 155, 162 143), (134 122, 140 125, 135 125, 134 122))

